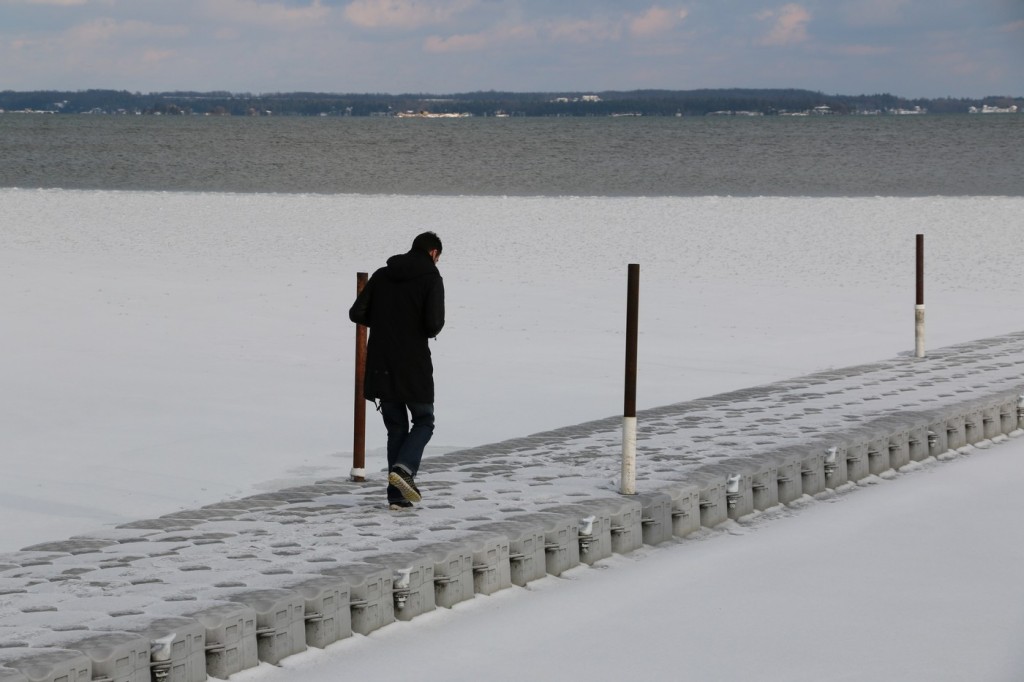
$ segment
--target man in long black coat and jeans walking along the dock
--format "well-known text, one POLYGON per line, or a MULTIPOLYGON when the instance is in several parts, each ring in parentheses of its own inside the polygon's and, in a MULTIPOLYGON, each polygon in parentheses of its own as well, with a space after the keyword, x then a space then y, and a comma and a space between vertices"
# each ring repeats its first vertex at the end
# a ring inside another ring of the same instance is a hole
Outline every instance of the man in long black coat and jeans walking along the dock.
POLYGON ((373 273, 348 311, 349 319, 370 328, 364 396, 380 400, 392 510, 420 501, 415 477, 434 433, 434 368, 427 339, 444 326, 440 257, 440 239, 423 232, 408 253, 391 256, 373 273))

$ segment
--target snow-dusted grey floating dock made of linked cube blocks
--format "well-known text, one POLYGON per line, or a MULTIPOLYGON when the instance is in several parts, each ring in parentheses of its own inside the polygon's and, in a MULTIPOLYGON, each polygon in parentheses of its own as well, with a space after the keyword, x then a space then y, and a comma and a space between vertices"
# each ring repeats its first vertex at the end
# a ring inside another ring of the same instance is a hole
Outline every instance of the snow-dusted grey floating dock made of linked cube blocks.
MULTIPOLYGON (((1024 333, 821 372, 0 555, 0 680, 229 677, 642 544, 1019 435, 1024 333)), ((895 494, 895 493, 894 493, 895 494)), ((44 539, 41 539, 44 540, 44 539)))

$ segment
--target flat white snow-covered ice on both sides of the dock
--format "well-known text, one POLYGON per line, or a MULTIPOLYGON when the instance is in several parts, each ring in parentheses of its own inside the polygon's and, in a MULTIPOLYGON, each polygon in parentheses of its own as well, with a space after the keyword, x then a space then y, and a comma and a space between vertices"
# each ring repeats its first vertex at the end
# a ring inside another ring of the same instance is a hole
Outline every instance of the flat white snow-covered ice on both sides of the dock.
MULTIPOLYGON (((1020 198, 0 189, 0 552, 346 475, 355 272, 424 229, 444 241, 449 297, 430 453, 618 413, 630 262, 641 409, 911 349, 918 232, 929 347, 1020 331, 1024 311, 1020 198)), ((930 462, 238 677, 357 677, 397 646, 424 680, 1018 679, 1022 451, 930 462)))

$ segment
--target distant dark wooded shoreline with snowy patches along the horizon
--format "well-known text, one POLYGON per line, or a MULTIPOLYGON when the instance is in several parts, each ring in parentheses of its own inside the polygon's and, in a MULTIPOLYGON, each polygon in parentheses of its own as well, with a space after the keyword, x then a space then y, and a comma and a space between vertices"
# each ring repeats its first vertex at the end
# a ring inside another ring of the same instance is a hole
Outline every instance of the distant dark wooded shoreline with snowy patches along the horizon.
POLYGON ((914 98, 893 94, 840 95, 801 89, 632 90, 432 94, 330 94, 129 92, 127 90, 0 91, 0 111, 55 114, 159 114, 207 116, 391 116, 398 113, 473 116, 707 116, 750 112, 772 115, 827 106, 833 114, 884 113, 921 108, 930 114, 964 114, 982 105, 1024 110, 1024 97, 914 98))

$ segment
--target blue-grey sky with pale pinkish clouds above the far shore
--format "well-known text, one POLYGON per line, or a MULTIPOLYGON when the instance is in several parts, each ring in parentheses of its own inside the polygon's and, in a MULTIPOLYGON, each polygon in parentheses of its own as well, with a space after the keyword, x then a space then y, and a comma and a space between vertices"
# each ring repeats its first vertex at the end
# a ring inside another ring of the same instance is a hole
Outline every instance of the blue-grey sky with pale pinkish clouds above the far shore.
POLYGON ((1024 0, 0 0, 0 89, 1024 95, 1024 0))

